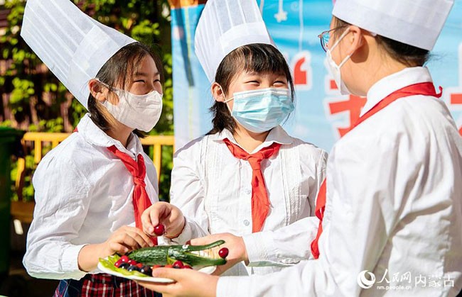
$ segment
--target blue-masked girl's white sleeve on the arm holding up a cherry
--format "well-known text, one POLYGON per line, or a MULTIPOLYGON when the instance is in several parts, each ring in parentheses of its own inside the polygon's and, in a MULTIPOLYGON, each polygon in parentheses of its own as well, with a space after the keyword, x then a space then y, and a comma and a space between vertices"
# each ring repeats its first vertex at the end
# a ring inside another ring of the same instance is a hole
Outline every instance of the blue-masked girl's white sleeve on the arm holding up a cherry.
POLYGON ((193 141, 176 153, 171 173, 170 201, 180 208, 186 218, 183 232, 172 240, 163 237, 166 244, 183 245, 188 240, 210 235, 208 215, 205 212, 203 181, 198 172, 200 142, 193 141))

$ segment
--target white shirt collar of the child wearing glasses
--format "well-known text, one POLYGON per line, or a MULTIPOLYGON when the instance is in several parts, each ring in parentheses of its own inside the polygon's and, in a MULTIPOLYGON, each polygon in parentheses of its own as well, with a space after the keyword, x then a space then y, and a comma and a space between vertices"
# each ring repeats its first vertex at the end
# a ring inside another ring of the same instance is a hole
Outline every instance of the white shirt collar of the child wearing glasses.
POLYGON ((400 72, 389 75, 376 82, 367 92, 367 101, 362 108, 361 115, 370 111, 377 103, 385 99, 394 91, 409 86, 418 84, 419 82, 432 82, 429 69, 426 67, 410 67, 401 70, 400 72))

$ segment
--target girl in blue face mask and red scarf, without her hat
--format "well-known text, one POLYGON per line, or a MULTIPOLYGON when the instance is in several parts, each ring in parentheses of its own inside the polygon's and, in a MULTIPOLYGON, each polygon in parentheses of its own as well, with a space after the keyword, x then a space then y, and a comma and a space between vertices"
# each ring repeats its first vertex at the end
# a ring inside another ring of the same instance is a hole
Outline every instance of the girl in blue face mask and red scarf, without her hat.
POLYGON ((327 154, 281 128, 294 111, 286 60, 273 45, 237 47, 217 68, 211 91, 213 129, 176 153, 171 204, 151 206, 144 231, 154 235, 161 223, 174 244, 227 232, 217 238, 230 250, 219 269, 235 264, 227 275, 267 274, 310 257, 327 154), (300 228, 274 232, 294 222, 300 228), (244 246, 247 265, 237 257, 244 246))

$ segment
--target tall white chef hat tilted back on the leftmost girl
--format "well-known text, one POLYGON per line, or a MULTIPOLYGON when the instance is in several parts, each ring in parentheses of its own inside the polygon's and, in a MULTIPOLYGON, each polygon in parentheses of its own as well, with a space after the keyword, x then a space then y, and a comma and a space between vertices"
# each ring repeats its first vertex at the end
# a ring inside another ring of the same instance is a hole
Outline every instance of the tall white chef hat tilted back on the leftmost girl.
POLYGON ((21 36, 85 108, 88 81, 120 48, 136 42, 69 0, 28 0, 21 36))

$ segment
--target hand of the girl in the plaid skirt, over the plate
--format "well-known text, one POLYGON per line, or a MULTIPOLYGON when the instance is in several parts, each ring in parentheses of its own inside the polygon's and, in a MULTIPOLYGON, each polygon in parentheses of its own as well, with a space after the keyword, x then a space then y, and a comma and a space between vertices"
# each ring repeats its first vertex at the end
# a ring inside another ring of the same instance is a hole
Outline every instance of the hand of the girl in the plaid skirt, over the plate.
POLYGON ((142 230, 130 226, 122 226, 102 244, 102 255, 107 257, 114 253, 126 254, 141 247, 152 247, 154 244, 142 230))

